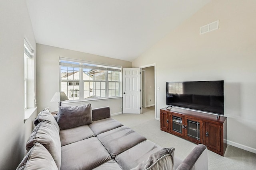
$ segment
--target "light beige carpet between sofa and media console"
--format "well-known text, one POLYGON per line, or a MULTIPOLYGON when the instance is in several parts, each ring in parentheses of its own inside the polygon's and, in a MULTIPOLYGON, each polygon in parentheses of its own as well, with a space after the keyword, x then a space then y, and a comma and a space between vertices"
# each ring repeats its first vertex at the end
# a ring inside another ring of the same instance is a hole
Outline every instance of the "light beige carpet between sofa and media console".
MULTIPOLYGON (((154 106, 143 108, 143 113, 121 114, 112 118, 145 136, 161 147, 174 147, 175 156, 184 159, 196 144, 160 130, 160 121, 155 120, 154 106)), ((208 150, 209 170, 256 170, 256 154, 228 145, 220 156, 208 150)))

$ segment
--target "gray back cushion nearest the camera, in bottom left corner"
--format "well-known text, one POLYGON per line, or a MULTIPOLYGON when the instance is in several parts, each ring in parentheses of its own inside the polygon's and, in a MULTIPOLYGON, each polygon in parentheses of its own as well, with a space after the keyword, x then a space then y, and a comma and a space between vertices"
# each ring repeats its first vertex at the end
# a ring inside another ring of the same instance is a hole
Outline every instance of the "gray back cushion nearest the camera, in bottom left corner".
POLYGON ((40 143, 35 145, 28 151, 26 156, 20 162, 16 170, 58 170, 52 155, 40 143))

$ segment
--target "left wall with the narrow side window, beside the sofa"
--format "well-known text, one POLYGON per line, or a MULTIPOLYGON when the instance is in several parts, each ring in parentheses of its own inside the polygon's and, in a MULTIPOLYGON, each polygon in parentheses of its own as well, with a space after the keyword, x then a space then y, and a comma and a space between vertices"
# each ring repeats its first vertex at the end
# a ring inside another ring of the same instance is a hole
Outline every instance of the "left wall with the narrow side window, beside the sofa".
MULTIPOLYGON (((34 113, 24 123, 24 38, 36 50, 25 0, 0 1, 0 169, 16 169, 33 129, 34 113)), ((33 58, 35 59, 36 56, 33 58)))

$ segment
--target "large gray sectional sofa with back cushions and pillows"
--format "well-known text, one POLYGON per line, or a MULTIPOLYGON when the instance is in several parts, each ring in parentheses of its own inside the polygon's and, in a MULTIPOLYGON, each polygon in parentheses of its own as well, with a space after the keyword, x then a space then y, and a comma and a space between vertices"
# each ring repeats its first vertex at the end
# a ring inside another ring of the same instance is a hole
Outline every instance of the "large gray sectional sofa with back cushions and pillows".
POLYGON ((207 148, 197 145, 180 160, 110 117, 109 107, 61 106, 34 121, 27 154, 17 170, 188 170, 208 169, 207 148))

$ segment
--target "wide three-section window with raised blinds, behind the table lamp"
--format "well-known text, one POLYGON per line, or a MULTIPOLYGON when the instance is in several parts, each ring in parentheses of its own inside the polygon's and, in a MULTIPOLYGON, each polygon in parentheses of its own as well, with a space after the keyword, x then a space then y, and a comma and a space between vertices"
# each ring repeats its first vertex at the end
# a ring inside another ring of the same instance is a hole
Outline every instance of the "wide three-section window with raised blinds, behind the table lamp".
POLYGON ((69 100, 119 97, 121 67, 60 59, 60 90, 69 100))

